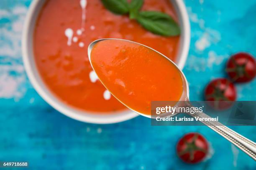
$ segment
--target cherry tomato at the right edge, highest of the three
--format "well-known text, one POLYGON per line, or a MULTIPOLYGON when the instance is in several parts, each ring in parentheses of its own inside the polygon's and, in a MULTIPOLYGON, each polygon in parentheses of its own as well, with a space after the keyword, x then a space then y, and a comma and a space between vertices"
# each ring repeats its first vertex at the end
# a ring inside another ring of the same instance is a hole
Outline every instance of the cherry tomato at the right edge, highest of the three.
POLYGON ((228 60, 226 72, 233 82, 249 82, 256 75, 256 61, 250 54, 239 52, 228 60))

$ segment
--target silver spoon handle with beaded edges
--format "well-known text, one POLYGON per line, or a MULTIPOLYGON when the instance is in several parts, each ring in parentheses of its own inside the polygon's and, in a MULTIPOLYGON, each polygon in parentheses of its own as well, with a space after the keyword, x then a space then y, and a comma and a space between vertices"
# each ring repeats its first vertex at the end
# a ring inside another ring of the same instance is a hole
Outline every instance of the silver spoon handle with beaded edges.
MULTIPOLYGON (((192 115, 193 117, 198 116, 202 118, 210 117, 203 112, 196 112, 192 115)), ((249 155, 253 160, 256 160, 256 143, 243 137, 239 133, 231 130, 230 128, 224 126, 218 121, 201 121, 203 124, 207 125, 209 128, 226 138, 228 141, 236 145, 238 148, 243 150, 247 155, 249 155)))

